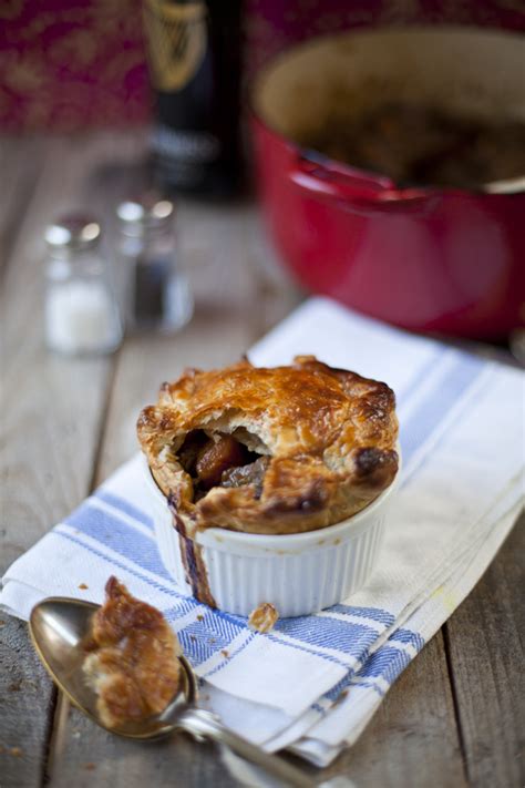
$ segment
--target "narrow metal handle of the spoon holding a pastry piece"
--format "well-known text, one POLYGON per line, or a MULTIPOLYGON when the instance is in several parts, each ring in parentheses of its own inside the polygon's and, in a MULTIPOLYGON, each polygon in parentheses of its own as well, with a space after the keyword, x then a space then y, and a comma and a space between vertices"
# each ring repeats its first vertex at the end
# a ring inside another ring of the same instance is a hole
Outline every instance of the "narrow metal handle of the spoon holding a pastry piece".
POLYGON ((192 734, 197 740, 213 739, 227 745, 241 758, 262 767, 274 777, 279 778, 285 785, 297 788, 313 788, 313 782, 300 769, 287 764, 275 755, 265 753, 250 741, 228 730, 218 717, 203 708, 187 708, 177 717, 177 726, 192 734))

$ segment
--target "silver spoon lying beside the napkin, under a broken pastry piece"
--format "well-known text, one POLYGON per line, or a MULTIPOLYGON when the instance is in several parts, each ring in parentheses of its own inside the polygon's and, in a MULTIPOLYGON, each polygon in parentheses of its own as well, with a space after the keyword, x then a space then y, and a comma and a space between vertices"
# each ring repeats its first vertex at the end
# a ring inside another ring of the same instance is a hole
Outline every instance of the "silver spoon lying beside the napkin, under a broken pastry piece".
POLYGON ((197 708, 197 683, 192 666, 184 656, 179 657, 184 668, 183 687, 162 714, 121 727, 107 728, 99 716, 96 694, 87 685, 83 673, 85 651, 82 642, 89 634, 91 617, 99 607, 100 605, 80 600, 50 597, 33 607, 29 620, 34 647, 51 678, 93 722, 112 734, 133 739, 154 739, 167 736, 174 730, 185 730, 197 741, 208 738, 227 745, 237 755, 262 767, 285 785, 298 788, 317 785, 281 758, 265 753, 228 730, 215 714, 197 708))

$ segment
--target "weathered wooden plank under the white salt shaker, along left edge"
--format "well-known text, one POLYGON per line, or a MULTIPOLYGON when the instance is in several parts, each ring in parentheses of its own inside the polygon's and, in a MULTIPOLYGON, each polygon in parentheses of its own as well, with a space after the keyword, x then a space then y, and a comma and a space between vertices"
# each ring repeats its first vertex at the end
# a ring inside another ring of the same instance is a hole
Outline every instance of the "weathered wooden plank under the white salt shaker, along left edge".
MULTIPOLYGON (((42 175, 16 234, 0 301, 1 572, 89 491, 113 366, 111 359, 68 360, 45 352, 42 231, 56 212, 92 207, 86 174, 101 162, 131 154, 133 144, 123 135, 48 141, 42 175)), ((6 621, 0 631, 1 785, 31 788, 41 781, 54 692, 24 627, 0 617, 6 621), (13 755, 12 747, 23 751, 13 755)))

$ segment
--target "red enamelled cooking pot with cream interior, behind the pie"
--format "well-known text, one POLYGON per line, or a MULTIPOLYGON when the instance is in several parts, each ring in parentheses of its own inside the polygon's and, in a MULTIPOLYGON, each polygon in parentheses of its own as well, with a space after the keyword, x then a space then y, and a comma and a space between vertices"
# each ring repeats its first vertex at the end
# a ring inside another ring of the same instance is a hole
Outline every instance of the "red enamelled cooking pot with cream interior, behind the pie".
POLYGON ((525 173, 478 191, 399 188, 301 149, 333 103, 525 120, 522 37, 465 28, 349 32, 295 47, 251 94, 270 233, 313 293, 413 330, 496 339, 525 324, 525 173), (522 177, 521 177, 522 176, 522 177))

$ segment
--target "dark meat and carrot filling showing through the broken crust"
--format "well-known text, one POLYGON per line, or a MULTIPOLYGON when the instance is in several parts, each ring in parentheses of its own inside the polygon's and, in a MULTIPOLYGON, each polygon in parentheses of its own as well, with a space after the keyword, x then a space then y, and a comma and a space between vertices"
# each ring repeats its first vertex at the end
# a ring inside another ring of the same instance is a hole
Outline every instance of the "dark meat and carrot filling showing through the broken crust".
POLYGON ((192 477, 195 501, 204 498, 214 487, 253 484, 256 499, 262 494, 270 458, 248 449, 233 434, 192 430, 185 437, 177 456, 181 465, 192 477))

